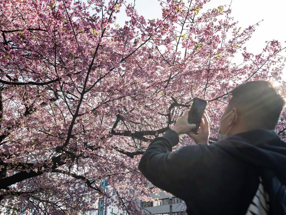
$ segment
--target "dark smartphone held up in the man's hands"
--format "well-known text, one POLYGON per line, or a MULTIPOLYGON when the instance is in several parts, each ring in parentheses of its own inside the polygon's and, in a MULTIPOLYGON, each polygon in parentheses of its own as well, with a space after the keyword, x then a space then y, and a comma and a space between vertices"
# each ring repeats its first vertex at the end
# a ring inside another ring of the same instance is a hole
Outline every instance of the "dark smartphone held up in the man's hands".
POLYGON ((194 133, 197 133, 200 121, 203 116, 203 111, 206 108, 206 100, 200 99, 198 97, 195 97, 192 101, 191 108, 189 110, 189 116, 188 116, 188 122, 189 124, 196 124, 196 128, 193 128, 191 131, 194 133))

